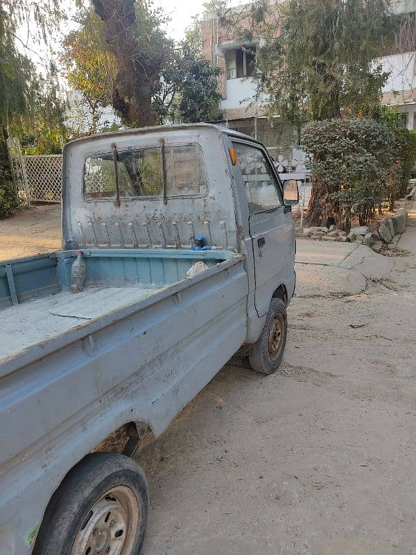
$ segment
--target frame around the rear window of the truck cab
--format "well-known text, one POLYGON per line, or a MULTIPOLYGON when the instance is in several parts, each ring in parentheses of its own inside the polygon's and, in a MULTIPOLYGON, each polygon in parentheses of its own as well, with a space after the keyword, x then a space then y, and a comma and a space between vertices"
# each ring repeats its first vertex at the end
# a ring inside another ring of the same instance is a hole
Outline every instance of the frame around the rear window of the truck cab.
MULTIPOLYGON (((171 148, 171 147, 186 147, 186 146, 197 146, 199 151, 200 151, 200 160, 201 160, 201 164, 202 164, 202 171, 204 173, 205 176, 205 182, 207 183, 207 190, 205 191, 205 193, 201 194, 179 194, 179 195, 167 195, 166 198, 169 199, 174 199, 174 198, 204 198, 205 196, 207 196, 209 194, 209 179, 208 179, 208 172, 207 172, 207 165, 205 164, 205 157, 204 157, 204 151, 202 149, 202 146, 197 143, 197 142, 192 142, 192 143, 165 143, 165 149, 166 148, 171 148)), ((145 150, 146 148, 160 148, 161 146, 159 143, 157 144, 146 144, 146 145, 135 145, 135 146, 128 146, 128 147, 123 147, 123 146, 117 146, 117 153, 123 153, 123 152, 128 152, 128 151, 139 151, 139 150, 145 150)), ((162 150, 161 150, 162 151, 162 150)), ((110 149, 101 149, 100 151, 91 151, 91 152, 87 152, 85 153, 84 157, 83 157, 83 165, 82 165, 82 171, 83 171, 83 175, 81 178, 81 198, 83 198, 83 200, 86 203, 96 203, 96 202, 114 202, 114 199, 116 198, 115 194, 114 196, 103 196, 103 197, 92 197, 92 196, 86 196, 85 194, 85 163, 87 162, 87 158, 91 157, 91 156, 100 156, 100 155, 112 155, 111 152, 111 147, 110 149)), ((164 195, 163 195, 163 191, 161 192, 160 195, 151 195, 151 196, 121 196, 120 200, 123 200, 123 202, 127 201, 127 200, 163 200, 164 195)))

